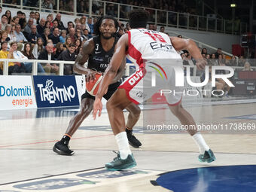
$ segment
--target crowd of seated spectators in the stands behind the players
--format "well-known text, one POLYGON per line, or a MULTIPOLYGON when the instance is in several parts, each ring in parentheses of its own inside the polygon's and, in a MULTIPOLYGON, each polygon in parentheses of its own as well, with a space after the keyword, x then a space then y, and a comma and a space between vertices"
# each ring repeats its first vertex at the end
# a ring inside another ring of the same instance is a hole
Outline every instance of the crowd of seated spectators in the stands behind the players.
MULTIPOLYGON (((38 11, 30 11, 28 16, 22 11, 17 11, 15 16, 11 15, 11 11, 8 10, 1 13, 0 58, 75 61, 82 44, 94 35, 93 23, 96 23, 97 17, 87 17, 83 14, 66 25, 62 23, 61 17, 60 13, 55 17, 49 13, 46 18, 43 18, 38 11)), ((157 25, 149 23, 148 29, 157 30, 157 25)), ((126 23, 126 26, 120 23, 117 35, 121 36, 128 30, 130 30, 129 23, 126 23)), ((160 26, 160 32, 165 32, 164 26, 160 26)), ((235 56, 227 59, 221 48, 216 53, 208 53, 206 48, 201 51, 203 58, 211 66, 250 65, 248 62, 245 65, 245 59, 242 56, 239 59, 236 59, 235 56)), ((186 50, 181 52, 181 57, 184 59, 184 65, 195 64, 186 50)), ((3 63, 0 62, 0 74, 2 74, 2 70, 3 63)), ((30 73, 32 72, 32 62, 10 62, 8 71, 10 75, 19 72, 30 73)), ((38 63, 38 72, 58 74, 59 69, 56 64, 42 62, 38 63)), ((72 65, 65 65, 64 74, 73 75, 72 65)))

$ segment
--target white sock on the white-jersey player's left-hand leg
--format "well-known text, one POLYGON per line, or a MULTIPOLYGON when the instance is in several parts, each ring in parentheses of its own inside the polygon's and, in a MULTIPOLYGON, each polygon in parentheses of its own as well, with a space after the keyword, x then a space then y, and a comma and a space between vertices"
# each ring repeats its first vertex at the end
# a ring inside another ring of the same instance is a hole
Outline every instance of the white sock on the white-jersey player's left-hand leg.
POLYGON ((121 133, 118 133, 115 136, 115 139, 117 140, 120 157, 121 159, 125 160, 129 154, 132 154, 132 152, 130 151, 126 132, 123 131, 121 133))

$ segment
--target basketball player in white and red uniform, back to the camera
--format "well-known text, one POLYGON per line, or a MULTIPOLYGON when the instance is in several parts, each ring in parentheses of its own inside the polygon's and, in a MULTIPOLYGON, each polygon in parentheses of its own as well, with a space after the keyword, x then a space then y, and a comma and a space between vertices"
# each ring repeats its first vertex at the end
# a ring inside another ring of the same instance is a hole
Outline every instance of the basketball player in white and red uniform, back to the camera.
MULTIPOLYGON (((175 66, 182 66, 181 56, 178 50, 188 50, 189 53, 197 60, 197 68, 204 69, 206 62, 203 60, 200 50, 194 41, 183 38, 169 38, 168 35, 161 32, 145 29, 148 21, 148 12, 136 9, 129 14, 130 26, 132 29, 123 35, 117 42, 114 55, 101 81, 99 91, 93 105, 93 118, 99 111, 102 111, 102 96, 108 85, 117 74, 117 70, 123 58, 127 55, 136 62, 137 71, 131 75, 118 90, 111 96, 107 102, 108 117, 111 123, 115 139, 119 148, 117 157, 110 163, 105 164, 107 169, 120 170, 136 166, 136 161, 130 151, 126 132, 123 109, 130 103, 140 103, 151 98, 160 88, 175 90, 177 94, 166 94, 166 100, 170 110, 178 117, 182 125, 194 125, 193 117, 182 107, 181 87, 175 86, 175 66), (151 72, 153 68, 158 68, 163 75, 156 74, 156 81, 160 86, 151 86, 151 72), (163 77, 164 78, 163 78, 163 77), (180 93, 180 94, 178 94, 180 93)), ((215 156, 212 150, 206 145, 203 136, 195 130, 187 130, 190 136, 200 148, 198 159, 201 162, 212 162, 215 156)))

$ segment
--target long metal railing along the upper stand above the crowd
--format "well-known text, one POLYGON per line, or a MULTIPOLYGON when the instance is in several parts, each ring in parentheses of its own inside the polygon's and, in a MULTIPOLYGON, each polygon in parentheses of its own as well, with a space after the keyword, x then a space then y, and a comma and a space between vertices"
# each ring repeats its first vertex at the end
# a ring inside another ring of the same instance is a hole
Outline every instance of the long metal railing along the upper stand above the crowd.
MULTIPOLYGON (((87 14, 90 17, 99 17, 101 14, 99 10, 102 8, 102 14, 111 14, 120 21, 128 21, 127 13, 130 10, 142 8, 134 5, 125 5, 100 0, 85 0, 81 2, 86 5, 85 7, 87 9, 81 13, 81 5, 77 5, 77 1, 73 1, 73 4, 69 4, 64 7, 60 4, 60 1, 53 0, 53 9, 42 8, 42 2, 44 2, 44 0, 20 0, 19 5, 4 3, 5 1, 3 0, 0 2, 4 7, 20 8, 21 10, 29 9, 32 11, 55 13, 61 12, 62 14, 72 14, 75 16, 87 14)), ((224 20, 194 14, 178 13, 175 11, 163 11, 154 8, 144 9, 150 12, 150 22, 158 26, 169 26, 182 29, 194 29, 228 34, 242 34, 247 32, 247 23, 239 22, 239 20, 224 20)))

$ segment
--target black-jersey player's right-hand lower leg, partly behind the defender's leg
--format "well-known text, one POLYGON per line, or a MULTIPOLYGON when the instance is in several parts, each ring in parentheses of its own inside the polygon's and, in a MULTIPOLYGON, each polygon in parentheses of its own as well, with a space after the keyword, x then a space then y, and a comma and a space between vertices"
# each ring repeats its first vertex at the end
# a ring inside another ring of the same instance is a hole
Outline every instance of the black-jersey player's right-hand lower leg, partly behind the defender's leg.
POLYGON ((141 109, 138 105, 135 105, 133 102, 126 107, 126 110, 129 111, 128 119, 126 122, 126 133, 129 144, 134 148, 139 148, 142 146, 142 143, 136 139, 136 136, 133 135, 133 126, 138 122, 139 116, 141 114, 141 109))

